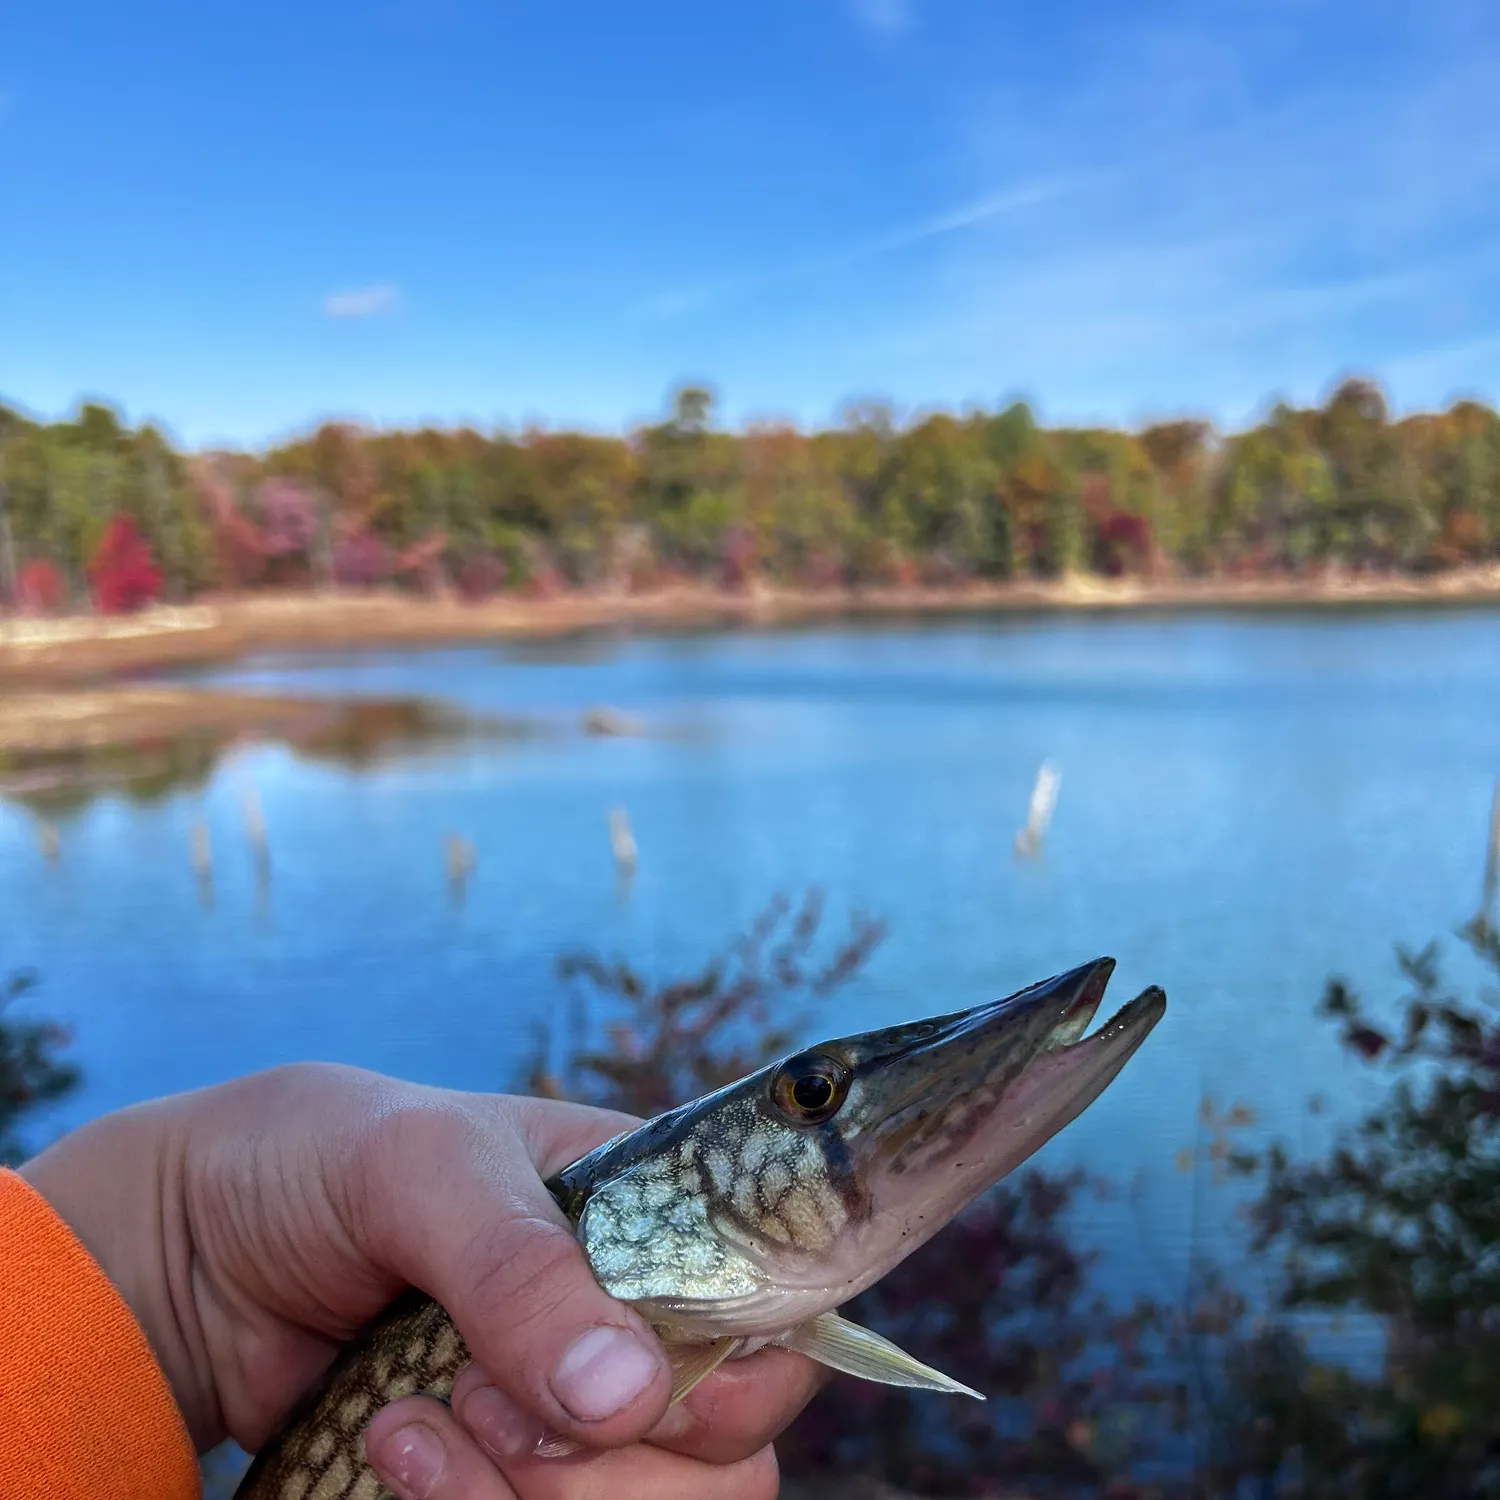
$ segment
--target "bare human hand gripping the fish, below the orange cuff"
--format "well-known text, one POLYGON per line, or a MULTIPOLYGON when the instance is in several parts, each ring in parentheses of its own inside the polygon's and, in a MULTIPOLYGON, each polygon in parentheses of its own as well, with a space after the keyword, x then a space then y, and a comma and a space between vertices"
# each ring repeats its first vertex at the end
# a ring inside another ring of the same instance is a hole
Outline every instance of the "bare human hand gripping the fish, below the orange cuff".
POLYGON ((818 1366, 764 1350, 668 1410, 640 1316, 600 1288, 543 1179, 628 1116, 298 1065, 105 1116, 22 1174, 146 1329, 200 1450, 258 1448, 406 1286, 472 1353, 452 1410, 376 1413, 411 1500, 764 1500, 818 1366), (592 1452, 532 1456, 543 1430, 592 1452))

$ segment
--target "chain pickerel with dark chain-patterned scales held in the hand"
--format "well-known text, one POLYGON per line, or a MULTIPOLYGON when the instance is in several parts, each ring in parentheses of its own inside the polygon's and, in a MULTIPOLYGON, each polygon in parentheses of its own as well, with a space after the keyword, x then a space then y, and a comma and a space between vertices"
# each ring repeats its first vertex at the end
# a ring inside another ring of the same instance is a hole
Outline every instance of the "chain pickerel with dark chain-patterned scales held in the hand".
MULTIPOLYGON (((646 1317, 681 1401, 768 1344, 864 1380, 970 1396, 838 1316, 1108 1086, 1161 1020, 1148 988, 1092 1036, 1113 958, 975 1010, 800 1052, 636 1126, 548 1182, 600 1286, 646 1317)), ((978 1274, 978 1270, 976 1270, 978 1274)), ((447 1400, 468 1362, 410 1293, 339 1356, 236 1500, 382 1500, 364 1464, 380 1406, 447 1400)), ((982 1396, 980 1396, 982 1400, 982 1396)), ((566 1437, 540 1452, 578 1452, 566 1437)))

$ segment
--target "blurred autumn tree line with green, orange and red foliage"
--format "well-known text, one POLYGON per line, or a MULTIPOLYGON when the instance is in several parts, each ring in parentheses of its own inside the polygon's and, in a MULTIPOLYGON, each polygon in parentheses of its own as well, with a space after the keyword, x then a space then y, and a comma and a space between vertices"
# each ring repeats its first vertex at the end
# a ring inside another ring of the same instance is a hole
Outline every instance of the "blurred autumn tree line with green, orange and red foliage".
POLYGON ((1044 428, 1023 402, 819 432, 678 390, 626 436, 327 423, 176 448, 106 406, 0 406, 0 602, 129 609, 204 590, 646 590, 1430 572, 1500 556, 1500 416, 1394 418, 1380 388, 1257 426, 1044 428))

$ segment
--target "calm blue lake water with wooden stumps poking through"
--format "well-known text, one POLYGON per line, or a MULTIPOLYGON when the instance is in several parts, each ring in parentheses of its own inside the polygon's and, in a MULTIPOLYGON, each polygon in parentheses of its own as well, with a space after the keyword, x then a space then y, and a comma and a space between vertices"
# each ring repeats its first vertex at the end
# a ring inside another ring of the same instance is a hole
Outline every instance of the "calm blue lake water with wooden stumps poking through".
MULTIPOLYGON (((1098 954, 1110 1000, 1148 982, 1166 1020, 1042 1154, 1142 1196, 1086 1206, 1120 1286, 1164 1290, 1191 1220, 1173 1166, 1200 1095, 1244 1098, 1293 1142, 1371 1080, 1312 1017, 1340 972, 1395 994, 1479 896, 1500 774, 1500 615, 1028 620, 596 640, 248 662, 240 687, 423 693, 556 734, 368 770, 240 753, 153 806, 104 796, 44 862, 0 807, 0 969, 76 1030, 90 1114, 286 1059, 458 1088, 514 1080, 579 945, 654 976, 698 966, 778 891, 890 934, 816 1035, 1004 994, 1098 954), (640 716, 590 738, 582 712, 640 716), (1062 770, 1046 854, 1012 858, 1042 759, 1062 770), (256 897, 240 813, 273 850, 256 897), (622 890, 606 814, 640 846, 622 890), (200 902, 189 831, 216 849, 200 902), (442 846, 474 840, 462 908, 442 846)), ((1454 972, 1468 974, 1449 942, 1454 972)), ((1208 1210, 1209 1216, 1218 1209, 1208 1210)), ((1216 1230, 1214 1230, 1216 1233, 1216 1230)))

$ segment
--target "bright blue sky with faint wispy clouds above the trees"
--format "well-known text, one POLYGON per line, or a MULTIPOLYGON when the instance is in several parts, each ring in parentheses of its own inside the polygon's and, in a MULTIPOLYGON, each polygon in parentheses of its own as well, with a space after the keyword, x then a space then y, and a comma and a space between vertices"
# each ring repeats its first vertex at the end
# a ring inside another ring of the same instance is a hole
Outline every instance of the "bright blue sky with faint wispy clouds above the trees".
POLYGON ((0 399, 34 412, 1500 398, 1494 0, 4 10, 0 399))

